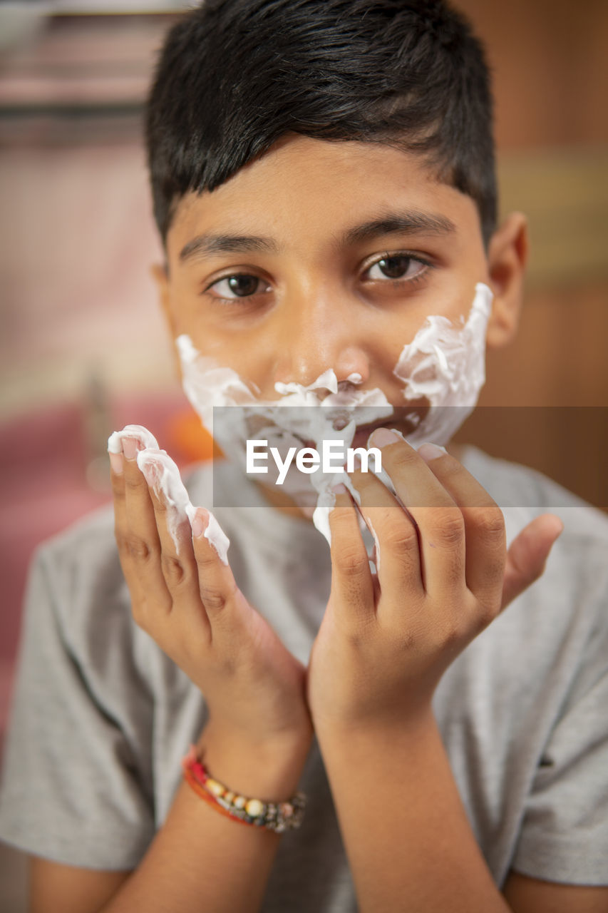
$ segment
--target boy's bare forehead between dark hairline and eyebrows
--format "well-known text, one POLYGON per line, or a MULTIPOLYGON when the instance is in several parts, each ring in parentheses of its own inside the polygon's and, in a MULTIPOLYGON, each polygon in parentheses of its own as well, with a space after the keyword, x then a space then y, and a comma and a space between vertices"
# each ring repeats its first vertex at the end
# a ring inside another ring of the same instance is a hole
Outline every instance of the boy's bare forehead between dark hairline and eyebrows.
POLYGON ((168 248, 170 257, 179 256, 203 233, 267 236, 277 247, 298 246, 311 235, 355 244, 361 238, 350 227, 395 211, 479 234, 473 200, 442 184, 421 156, 380 143, 292 134, 213 192, 186 194, 168 248))

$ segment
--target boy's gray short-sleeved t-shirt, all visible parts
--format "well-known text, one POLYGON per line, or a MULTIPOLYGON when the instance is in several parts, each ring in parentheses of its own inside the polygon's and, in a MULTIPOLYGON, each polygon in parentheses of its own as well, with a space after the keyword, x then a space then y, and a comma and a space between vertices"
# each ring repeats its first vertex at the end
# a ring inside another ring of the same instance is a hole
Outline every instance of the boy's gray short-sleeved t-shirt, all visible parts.
MULTIPOLYGON (((435 712, 498 886, 509 869, 608 885, 608 519, 549 479, 467 448, 511 540, 543 510, 565 530, 540 582, 449 667, 435 712)), ((330 593, 326 541, 243 489, 215 508, 236 581, 303 662, 330 593), (255 506, 251 506, 255 505, 255 506)), ((219 481, 218 481, 219 479, 219 481)), ((212 506, 210 467, 190 479, 212 506)), ((0 792, 0 838, 73 866, 131 869, 162 824, 204 697, 131 619, 104 509, 37 554, 30 576, 0 792)), ((219 773, 218 773, 219 775, 219 773)), ((264 913, 347 913, 356 898, 316 741, 299 831, 284 834, 264 913)), ((402 817, 398 803, 386 813, 402 817)))

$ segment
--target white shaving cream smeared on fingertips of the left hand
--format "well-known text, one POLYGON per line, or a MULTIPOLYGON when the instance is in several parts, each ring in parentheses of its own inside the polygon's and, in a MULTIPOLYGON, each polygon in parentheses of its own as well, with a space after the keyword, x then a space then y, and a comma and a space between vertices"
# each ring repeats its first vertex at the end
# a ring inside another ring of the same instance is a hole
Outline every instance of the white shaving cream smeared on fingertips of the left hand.
MULTIPOLYGON (((142 445, 137 455, 137 465, 154 490, 159 500, 167 505, 165 513, 167 530, 179 554, 178 530, 183 523, 192 525, 196 508, 188 497, 180 471, 166 450, 159 449, 156 438, 143 425, 125 425, 122 431, 115 431, 108 439, 110 453, 122 453, 122 441, 125 437, 134 437, 142 445)), ((210 510, 207 510, 209 521, 204 530, 204 538, 217 552, 220 561, 228 563, 227 552, 230 540, 225 535, 210 510)))

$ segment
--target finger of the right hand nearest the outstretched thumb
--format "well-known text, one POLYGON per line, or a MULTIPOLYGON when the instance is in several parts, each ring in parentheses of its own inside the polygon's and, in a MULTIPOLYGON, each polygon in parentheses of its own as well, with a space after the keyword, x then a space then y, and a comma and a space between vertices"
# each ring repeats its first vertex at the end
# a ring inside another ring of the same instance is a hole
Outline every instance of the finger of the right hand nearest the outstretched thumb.
POLYGON ((456 503, 465 523, 466 586, 490 612, 500 607, 506 535, 502 510, 456 457, 423 444, 418 453, 456 503))

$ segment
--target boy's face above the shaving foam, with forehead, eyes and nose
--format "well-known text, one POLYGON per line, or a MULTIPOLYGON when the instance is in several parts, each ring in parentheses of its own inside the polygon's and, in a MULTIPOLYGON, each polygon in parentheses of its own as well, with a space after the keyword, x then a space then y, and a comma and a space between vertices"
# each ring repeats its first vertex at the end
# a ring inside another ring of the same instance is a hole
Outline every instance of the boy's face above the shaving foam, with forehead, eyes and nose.
POLYGON ((419 156, 295 134, 213 193, 183 197, 159 278, 173 337, 260 399, 332 368, 402 407, 404 345, 431 315, 466 320, 476 284, 490 284, 475 203, 419 156))

